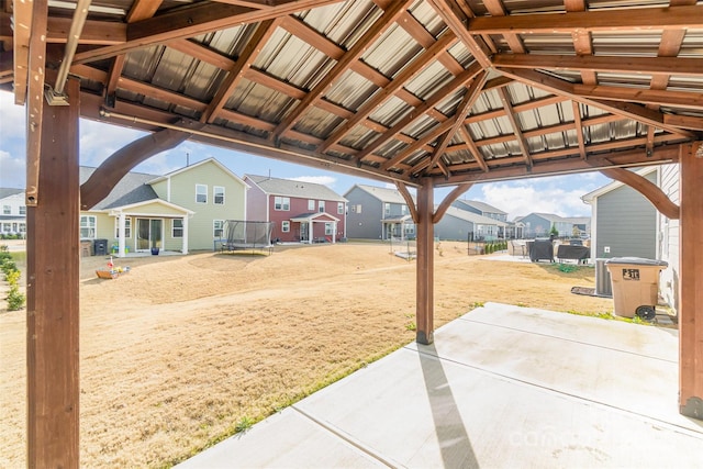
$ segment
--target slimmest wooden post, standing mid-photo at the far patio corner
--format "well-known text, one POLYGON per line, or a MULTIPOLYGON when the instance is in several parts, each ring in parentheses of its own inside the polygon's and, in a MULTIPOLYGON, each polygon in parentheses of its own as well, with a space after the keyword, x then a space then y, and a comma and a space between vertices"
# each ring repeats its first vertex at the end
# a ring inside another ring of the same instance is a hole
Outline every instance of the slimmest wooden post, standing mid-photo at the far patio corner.
POLYGON ((431 178, 423 178, 417 189, 417 263, 416 263, 416 310, 417 331, 415 340, 419 344, 434 342, 434 183, 431 178))

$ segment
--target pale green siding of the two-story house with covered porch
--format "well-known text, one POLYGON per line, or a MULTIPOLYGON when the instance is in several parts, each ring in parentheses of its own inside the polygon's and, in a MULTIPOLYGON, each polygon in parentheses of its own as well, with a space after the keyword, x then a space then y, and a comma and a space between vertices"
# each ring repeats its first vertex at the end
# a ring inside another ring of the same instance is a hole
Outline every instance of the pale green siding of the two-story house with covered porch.
MULTIPOLYGON (((213 249, 214 220, 245 220, 246 189, 242 180, 233 178, 214 161, 193 165, 152 185, 160 199, 192 210, 188 221, 188 245, 190 250, 213 249), (170 189, 169 189, 170 179, 170 189), (196 202, 196 185, 208 187, 207 203, 196 202), (213 188, 224 187, 224 204, 214 204, 213 188)), ((171 224, 165 231, 170 236, 171 224)))

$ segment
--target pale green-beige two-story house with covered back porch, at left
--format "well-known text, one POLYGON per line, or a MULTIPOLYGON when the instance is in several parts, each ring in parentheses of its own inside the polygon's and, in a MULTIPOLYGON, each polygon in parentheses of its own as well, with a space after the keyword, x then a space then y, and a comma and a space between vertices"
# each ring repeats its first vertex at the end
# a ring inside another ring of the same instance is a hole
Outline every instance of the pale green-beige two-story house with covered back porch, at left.
MULTIPOLYGON (((81 183, 94 168, 80 168, 81 183)), ((217 160, 154 176, 129 172, 100 203, 80 213, 80 238, 96 255, 188 254, 212 249, 226 220, 246 219, 248 186, 217 160)))

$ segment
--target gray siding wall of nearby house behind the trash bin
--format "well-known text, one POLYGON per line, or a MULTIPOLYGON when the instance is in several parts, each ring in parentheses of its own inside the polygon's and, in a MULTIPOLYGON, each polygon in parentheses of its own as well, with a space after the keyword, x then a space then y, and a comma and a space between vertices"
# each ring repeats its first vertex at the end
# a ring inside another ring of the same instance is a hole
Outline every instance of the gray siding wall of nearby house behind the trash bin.
MULTIPOLYGON (((656 171, 645 176, 657 183, 656 171)), ((598 198, 595 257, 657 256, 657 211, 643 194, 623 185, 598 198), (610 253, 605 253, 610 247, 610 253)))

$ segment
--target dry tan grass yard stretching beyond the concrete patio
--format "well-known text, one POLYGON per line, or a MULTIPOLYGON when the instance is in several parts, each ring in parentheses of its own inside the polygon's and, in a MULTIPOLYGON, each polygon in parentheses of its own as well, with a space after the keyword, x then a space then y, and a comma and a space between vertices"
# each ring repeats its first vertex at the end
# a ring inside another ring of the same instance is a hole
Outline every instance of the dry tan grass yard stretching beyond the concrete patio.
MULTIPOLYGON (((612 311, 593 269, 435 253, 435 325, 477 303, 612 311)), ((415 265, 382 244, 81 259, 83 467, 168 467, 415 337, 415 265)), ((25 312, 0 303, 0 467, 25 466, 25 312)))

